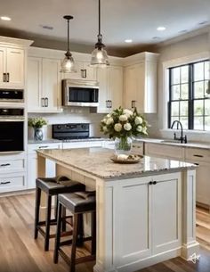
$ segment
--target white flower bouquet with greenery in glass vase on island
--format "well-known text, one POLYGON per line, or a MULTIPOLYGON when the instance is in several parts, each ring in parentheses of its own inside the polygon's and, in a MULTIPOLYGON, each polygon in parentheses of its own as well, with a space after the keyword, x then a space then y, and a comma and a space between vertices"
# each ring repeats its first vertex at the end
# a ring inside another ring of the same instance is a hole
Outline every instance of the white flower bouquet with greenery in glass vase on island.
POLYGON ((105 135, 109 135, 109 138, 117 139, 119 150, 129 151, 132 137, 148 135, 148 122, 136 108, 130 111, 119 107, 101 120, 100 127, 105 135))

